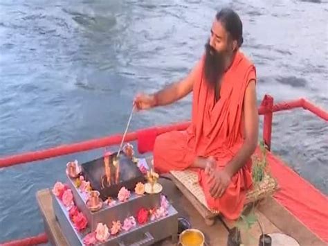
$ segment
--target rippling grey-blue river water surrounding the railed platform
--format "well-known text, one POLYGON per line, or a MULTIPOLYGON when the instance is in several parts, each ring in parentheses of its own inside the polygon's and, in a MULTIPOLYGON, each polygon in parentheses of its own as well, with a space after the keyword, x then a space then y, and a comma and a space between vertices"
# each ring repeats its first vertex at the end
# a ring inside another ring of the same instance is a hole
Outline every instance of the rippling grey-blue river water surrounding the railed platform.
MULTIPOLYGON (((0 0, 0 155, 122 132, 137 91, 179 80, 197 62, 221 6, 244 21, 259 103, 271 94, 328 108, 327 2, 212 2, 0 0)), ((137 114, 130 130, 184 121, 190 103, 137 114)), ((273 151, 326 194, 327 130, 300 109, 274 116, 273 151)), ((67 161, 102 151, 0 170, 0 242, 42 232, 35 193, 64 181, 67 161)))

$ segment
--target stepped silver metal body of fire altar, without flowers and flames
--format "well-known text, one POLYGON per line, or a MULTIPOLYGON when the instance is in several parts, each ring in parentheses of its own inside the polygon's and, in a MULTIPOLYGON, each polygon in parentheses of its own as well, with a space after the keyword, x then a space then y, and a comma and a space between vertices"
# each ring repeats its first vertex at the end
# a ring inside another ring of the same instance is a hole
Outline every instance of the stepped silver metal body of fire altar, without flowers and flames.
MULTIPOLYGON (((116 153, 113 153, 110 156, 109 163, 111 165, 113 165, 113 158, 116 155, 116 153)), ((75 186, 75 179, 78 177, 71 178, 66 174, 69 187, 73 193, 74 203, 88 220, 88 228, 82 232, 77 231, 69 218, 69 211, 53 195, 55 216, 70 245, 83 245, 84 236, 91 231, 95 231, 99 222, 107 225, 110 229, 113 221, 120 220, 122 223, 129 216, 136 218, 141 208, 158 209, 161 206, 161 194, 136 195, 134 193, 136 184, 138 182, 144 183, 145 177, 140 172, 138 166, 129 157, 125 156, 124 153, 120 155, 120 180, 118 184, 112 184, 107 188, 102 188, 100 183, 102 176, 105 174, 103 157, 86 162, 81 166, 84 179, 90 182, 93 190, 100 192, 100 198, 104 201, 108 197, 112 197, 116 200, 116 204, 109 206, 106 203, 102 203, 102 207, 98 211, 91 211, 86 206, 86 199, 88 198, 75 186), (131 192, 131 196, 126 202, 119 202, 117 200, 118 191, 122 186, 125 186, 131 192)), ((170 205, 167 212, 168 214, 164 218, 148 221, 144 225, 137 225, 130 231, 120 231, 118 236, 110 236, 109 240, 101 245, 152 245, 170 236, 176 242, 178 234, 178 213, 172 205, 170 205)))

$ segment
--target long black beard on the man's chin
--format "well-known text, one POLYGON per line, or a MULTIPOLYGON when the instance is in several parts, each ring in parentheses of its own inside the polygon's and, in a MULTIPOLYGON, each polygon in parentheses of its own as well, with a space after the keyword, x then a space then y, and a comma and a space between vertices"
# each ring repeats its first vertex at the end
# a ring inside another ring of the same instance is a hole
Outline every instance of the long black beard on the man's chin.
POLYGON ((217 52, 209 43, 205 44, 205 78, 210 87, 217 85, 225 70, 224 53, 217 52))

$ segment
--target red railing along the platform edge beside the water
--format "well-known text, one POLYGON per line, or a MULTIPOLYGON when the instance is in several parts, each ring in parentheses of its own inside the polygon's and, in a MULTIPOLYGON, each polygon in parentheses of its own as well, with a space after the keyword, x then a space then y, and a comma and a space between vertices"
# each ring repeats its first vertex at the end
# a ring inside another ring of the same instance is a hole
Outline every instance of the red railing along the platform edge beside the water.
MULTIPOLYGON (((273 104, 273 98, 271 96, 264 96, 262 103, 259 107, 259 114, 264 115, 264 127, 263 127, 263 139, 264 143, 268 148, 271 148, 271 130, 272 130, 272 119, 273 113, 283 110, 303 108, 307 109, 316 116, 328 121, 328 112, 320 109, 316 105, 309 103, 309 101, 304 98, 298 100, 292 100, 284 103, 273 104)), ((154 128, 157 134, 162 134, 164 132, 169 132, 172 130, 185 130, 188 128, 189 122, 179 123, 176 125, 166 125, 163 127, 154 128)), ((144 130, 143 130, 144 131, 144 130)), ((137 132, 129 132, 125 138, 125 141, 135 141, 138 139, 137 132)), ((42 159, 48 159, 52 157, 59 157, 62 155, 69 155, 75 152, 82 152, 86 150, 93 150, 96 148, 102 148, 106 146, 119 144, 122 140, 122 135, 114 135, 111 137, 104 137, 101 139, 92 139, 89 141, 83 141, 80 143, 73 143, 70 145, 58 146, 55 148, 49 148, 47 150, 39 150, 35 152, 26 152, 24 154, 12 155, 8 157, 0 158, 0 168, 14 166, 17 164, 24 164, 31 161, 39 161, 42 159)), ((24 238, 21 240, 15 240, 8 243, 3 243, 3 246, 20 246, 20 245, 37 245, 41 243, 46 243, 48 241, 46 234, 40 234, 39 236, 34 236, 30 238, 24 238)))

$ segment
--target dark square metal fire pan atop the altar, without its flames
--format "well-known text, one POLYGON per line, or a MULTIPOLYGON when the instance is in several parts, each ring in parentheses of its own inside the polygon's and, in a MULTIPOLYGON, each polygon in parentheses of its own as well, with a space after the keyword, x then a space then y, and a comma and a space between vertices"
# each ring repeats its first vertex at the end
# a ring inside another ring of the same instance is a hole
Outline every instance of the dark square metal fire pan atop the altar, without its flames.
MULTIPOLYGON (((109 166, 113 174, 113 159, 116 157, 117 152, 109 156, 109 166)), ((145 182, 145 176, 140 172, 139 168, 134 164, 131 158, 127 157, 124 152, 120 152, 120 178, 118 184, 111 184, 111 186, 102 188, 101 180, 105 175, 104 170, 104 157, 100 157, 93 161, 82 164, 82 173, 84 178, 90 182, 93 190, 100 192, 102 200, 108 197, 117 197, 118 191, 122 186, 125 186, 129 191, 134 191, 134 187, 138 182, 145 182)))

